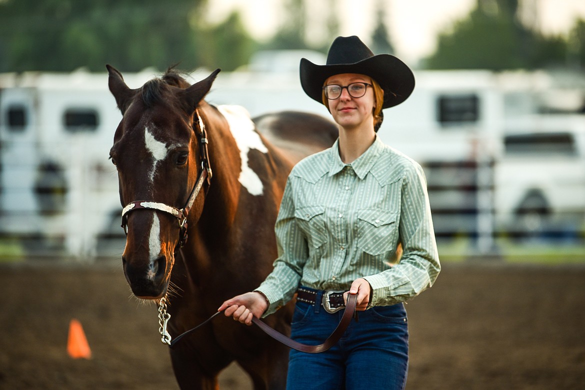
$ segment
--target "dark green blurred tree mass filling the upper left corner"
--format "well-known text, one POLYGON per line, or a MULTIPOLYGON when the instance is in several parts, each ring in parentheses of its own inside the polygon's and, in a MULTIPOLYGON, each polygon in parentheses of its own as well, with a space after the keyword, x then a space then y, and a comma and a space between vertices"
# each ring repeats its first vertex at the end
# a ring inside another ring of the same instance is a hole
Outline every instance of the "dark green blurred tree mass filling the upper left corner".
POLYGON ((196 67, 203 1, 0 1, 0 71, 196 67))

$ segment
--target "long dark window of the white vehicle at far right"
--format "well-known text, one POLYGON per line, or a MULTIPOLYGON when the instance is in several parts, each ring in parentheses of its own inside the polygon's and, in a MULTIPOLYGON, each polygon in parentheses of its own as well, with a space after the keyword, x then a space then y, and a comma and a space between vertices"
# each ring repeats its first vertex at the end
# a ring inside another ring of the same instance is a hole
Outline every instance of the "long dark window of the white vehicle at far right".
POLYGON ((504 137, 507 154, 577 154, 575 139, 571 133, 512 134, 504 137))

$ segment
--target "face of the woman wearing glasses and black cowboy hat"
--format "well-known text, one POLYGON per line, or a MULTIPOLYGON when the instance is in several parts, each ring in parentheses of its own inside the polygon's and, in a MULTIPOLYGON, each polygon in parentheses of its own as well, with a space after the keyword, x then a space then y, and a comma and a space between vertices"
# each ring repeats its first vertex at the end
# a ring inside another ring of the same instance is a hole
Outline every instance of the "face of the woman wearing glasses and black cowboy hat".
MULTIPOLYGON (((329 77, 325 85, 337 84, 346 87, 353 82, 365 82, 371 84, 371 78, 363 74, 343 73, 329 77)), ((360 127, 364 123, 369 123, 373 127, 373 109, 376 105, 374 90, 366 87, 366 94, 361 98, 354 98, 343 88, 341 96, 338 99, 329 99, 329 111, 333 120, 344 129, 360 127)))

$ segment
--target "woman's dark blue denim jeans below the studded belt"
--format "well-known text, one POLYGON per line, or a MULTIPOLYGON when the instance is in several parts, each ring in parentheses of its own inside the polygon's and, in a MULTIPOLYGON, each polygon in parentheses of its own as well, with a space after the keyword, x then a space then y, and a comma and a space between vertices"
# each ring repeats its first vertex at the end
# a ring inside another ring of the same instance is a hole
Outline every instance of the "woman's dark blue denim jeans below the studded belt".
MULTIPOLYGON (((318 354, 290 351, 287 390, 402 390, 408 372, 408 322, 404 305, 357 312, 339 343, 318 354)), ((333 332, 343 310, 298 302, 292 339, 321 344, 333 332)))

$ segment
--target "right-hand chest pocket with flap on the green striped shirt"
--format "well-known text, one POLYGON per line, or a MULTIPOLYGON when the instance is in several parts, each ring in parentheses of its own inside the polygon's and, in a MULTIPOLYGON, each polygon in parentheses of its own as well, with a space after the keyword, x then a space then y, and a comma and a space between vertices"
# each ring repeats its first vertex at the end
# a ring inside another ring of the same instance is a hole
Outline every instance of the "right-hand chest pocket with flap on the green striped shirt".
POLYGON ((394 249, 397 213, 379 208, 357 210, 357 247, 373 256, 394 249))

